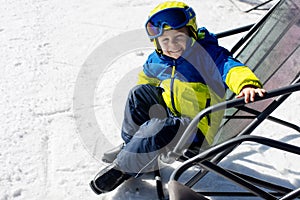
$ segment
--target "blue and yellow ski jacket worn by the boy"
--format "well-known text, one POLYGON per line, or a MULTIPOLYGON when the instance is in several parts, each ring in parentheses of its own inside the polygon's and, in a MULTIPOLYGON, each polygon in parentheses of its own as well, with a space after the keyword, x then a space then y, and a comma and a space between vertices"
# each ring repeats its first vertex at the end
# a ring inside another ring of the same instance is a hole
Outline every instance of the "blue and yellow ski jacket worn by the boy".
MULTIPOLYGON (((204 108, 224 100, 227 88, 238 94, 246 85, 262 87, 248 67, 218 45, 214 34, 200 28, 198 38, 190 40, 189 48, 178 59, 154 51, 139 74, 138 84, 164 89, 164 101, 177 116, 195 117, 204 108)), ((212 122, 207 117, 198 125, 208 142, 213 140, 213 134, 208 134, 212 122)))

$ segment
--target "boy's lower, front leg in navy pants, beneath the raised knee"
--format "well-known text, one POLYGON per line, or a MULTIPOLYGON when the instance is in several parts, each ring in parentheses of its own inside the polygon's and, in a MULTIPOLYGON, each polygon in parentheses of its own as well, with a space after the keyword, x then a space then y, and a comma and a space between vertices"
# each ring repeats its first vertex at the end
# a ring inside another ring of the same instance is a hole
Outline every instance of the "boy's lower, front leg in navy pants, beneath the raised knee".
POLYGON ((190 122, 188 118, 152 118, 144 123, 114 161, 122 171, 137 176, 158 169, 157 158, 173 149, 190 122))

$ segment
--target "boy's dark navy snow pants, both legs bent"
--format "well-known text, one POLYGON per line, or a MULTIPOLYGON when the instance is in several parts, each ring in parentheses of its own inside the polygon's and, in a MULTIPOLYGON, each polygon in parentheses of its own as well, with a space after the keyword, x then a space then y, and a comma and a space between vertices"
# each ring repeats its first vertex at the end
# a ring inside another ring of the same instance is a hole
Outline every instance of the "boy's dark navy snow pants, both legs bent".
MULTIPOLYGON (((158 156, 175 146, 190 122, 189 118, 176 117, 169 111, 162 92, 160 87, 138 85, 129 93, 122 125, 126 145, 115 160, 127 173, 138 175, 156 170, 158 156)), ((203 136, 191 140, 199 142, 203 136)))

